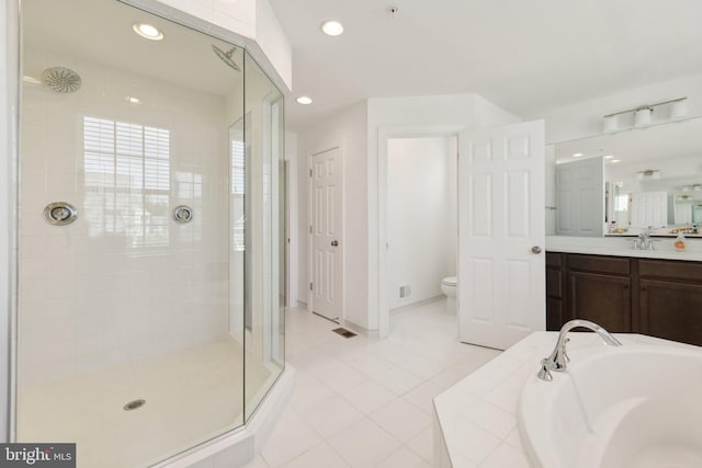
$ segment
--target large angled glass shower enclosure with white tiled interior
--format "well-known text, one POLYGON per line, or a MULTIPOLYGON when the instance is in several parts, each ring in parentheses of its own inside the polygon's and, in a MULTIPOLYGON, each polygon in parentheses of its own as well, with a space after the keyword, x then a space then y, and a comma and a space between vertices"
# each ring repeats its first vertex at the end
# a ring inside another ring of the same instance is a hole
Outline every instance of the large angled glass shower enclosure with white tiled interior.
POLYGON ((23 0, 21 24, 14 441, 154 465, 283 370, 283 95, 116 0, 23 0))

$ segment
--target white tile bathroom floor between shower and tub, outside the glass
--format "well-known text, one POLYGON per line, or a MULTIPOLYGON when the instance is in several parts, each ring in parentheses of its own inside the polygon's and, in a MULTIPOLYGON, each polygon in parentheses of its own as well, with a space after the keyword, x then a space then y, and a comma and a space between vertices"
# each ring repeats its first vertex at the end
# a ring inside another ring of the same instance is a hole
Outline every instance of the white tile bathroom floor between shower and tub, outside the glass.
POLYGON ((390 316, 386 340, 344 339, 335 323, 290 309, 295 388, 247 468, 432 466, 433 397, 499 354, 458 343, 444 307, 438 300, 390 316))

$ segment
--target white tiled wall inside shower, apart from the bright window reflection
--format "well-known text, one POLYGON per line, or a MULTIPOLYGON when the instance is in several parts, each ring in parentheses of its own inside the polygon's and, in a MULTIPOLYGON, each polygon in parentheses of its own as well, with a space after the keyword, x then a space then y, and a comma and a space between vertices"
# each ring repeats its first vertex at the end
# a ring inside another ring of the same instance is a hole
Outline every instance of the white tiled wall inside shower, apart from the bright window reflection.
POLYGON ((21 384, 224 339, 229 244, 224 100, 71 57, 25 53, 25 75, 41 78, 52 66, 77 71, 82 87, 60 94, 23 85, 21 384), (161 246, 143 247, 128 231, 105 232, 94 225, 86 201, 103 189, 86 186, 84 116, 169 130, 168 235, 161 246), (56 227, 43 219, 44 206, 58 201, 78 208, 76 222, 56 227), (191 224, 172 220, 170 212, 180 204, 194 209, 191 224))

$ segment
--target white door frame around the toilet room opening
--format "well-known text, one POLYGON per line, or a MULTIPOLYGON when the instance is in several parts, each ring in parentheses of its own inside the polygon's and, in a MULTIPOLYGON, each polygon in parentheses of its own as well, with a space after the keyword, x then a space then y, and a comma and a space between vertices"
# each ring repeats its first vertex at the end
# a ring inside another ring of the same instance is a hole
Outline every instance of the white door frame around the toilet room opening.
POLYGON ((387 308, 387 140, 393 138, 458 137, 465 125, 412 125, 380 127, 377 136, 377 315, 378 336, 390 332, 387 308))

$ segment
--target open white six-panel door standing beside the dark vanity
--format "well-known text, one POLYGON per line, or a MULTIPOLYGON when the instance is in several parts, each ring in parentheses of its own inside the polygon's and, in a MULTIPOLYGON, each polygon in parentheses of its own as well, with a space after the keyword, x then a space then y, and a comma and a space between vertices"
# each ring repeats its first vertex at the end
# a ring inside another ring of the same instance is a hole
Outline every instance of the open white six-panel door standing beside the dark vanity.
POLYGON ((505 350, 544 330, 544 123, 458 136, 458 335, 505 350))

